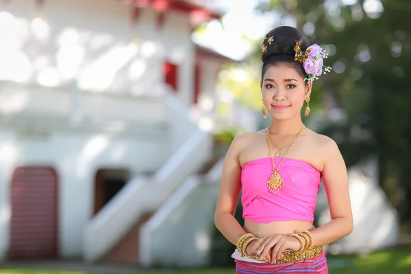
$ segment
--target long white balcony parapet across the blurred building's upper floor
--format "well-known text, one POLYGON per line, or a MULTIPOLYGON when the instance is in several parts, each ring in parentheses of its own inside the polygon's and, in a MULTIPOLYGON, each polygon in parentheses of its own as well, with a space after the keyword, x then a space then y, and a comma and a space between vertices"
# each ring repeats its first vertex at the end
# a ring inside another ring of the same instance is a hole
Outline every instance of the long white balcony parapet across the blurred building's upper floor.
POLYGON ((97 132, 162 134, 170 116, 164 98, 0 81, 0 124, 44 131, 75 127, 97 132))

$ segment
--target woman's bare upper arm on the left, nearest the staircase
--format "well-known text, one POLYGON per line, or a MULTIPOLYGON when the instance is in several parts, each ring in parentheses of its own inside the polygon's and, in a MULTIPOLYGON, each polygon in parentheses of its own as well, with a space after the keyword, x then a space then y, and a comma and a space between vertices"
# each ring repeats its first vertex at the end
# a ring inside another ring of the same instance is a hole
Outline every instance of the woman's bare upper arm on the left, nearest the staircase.
POLYGON ((236 212, 238 197, 241 190, 241 165, 239 154, 244 143, 244 134, 237 136, 225 155, 219 198, 216 205, 216 214, 228 212, 232 215, 236 212))

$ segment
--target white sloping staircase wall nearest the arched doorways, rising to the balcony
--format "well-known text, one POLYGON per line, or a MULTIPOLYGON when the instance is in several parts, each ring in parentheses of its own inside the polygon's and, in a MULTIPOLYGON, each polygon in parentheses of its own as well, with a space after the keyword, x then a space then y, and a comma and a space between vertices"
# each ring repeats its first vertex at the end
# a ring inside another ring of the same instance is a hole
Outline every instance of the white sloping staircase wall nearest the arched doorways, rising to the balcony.
MULTIPOLYGON (((84 260, 95 262, 108 254, 147 211, 155 211, 211 156, 212 138, 188 119, 178 101, 166 98, 169 111, 171 156, 152 177, 134 177, 88 223, 84 233, 84 260)), ((137 245, 137 243, 136 243, 137 245)))

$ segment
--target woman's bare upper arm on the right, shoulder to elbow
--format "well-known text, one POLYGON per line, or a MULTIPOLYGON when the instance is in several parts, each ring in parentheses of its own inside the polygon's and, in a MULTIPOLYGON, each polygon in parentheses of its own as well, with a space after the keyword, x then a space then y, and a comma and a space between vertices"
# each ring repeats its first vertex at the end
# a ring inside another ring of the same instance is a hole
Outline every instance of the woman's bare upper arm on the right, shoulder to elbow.
POLYGON ((331 218, 347 217, 352 220, 349 199, 347 167, 334 140, 326 137, 324 145, 323 182, 331 218))

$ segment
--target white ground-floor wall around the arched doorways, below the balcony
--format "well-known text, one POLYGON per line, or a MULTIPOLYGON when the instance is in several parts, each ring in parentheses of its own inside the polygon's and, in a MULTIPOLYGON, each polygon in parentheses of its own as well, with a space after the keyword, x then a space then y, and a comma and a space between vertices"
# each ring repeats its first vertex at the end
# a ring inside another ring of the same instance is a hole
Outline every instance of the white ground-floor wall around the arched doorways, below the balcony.
POLYGON ((79 256, 83 233, 92 217, 95 173, 100 168, 129 169, 132 174, 155 171, 166 160, 165 145, 155 138, 138 140, 88 132, 55 132, 47 140, 0 134, 0 258, 9 245, 10 182, 16 166, 51 165, 58 173, 60 254, 79 256), (144 155, 142 157, 142 155, 144 155), (73 203, 75 201, 75 203, 73 203))

